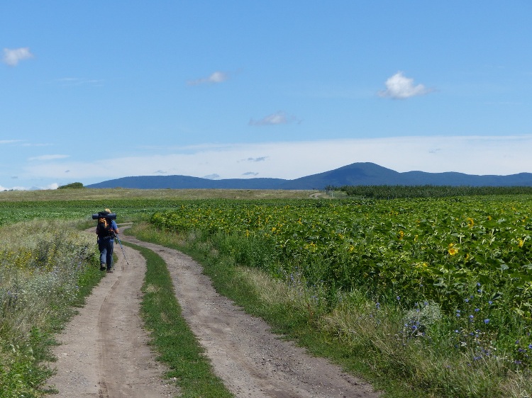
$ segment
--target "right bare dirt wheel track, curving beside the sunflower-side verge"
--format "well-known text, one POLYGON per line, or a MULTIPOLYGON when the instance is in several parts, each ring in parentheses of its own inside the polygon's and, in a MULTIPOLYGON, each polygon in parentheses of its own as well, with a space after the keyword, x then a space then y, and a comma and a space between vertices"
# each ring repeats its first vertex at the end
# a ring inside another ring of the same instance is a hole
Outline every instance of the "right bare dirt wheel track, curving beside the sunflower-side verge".
POLYGON ((236 397, 379 397, 371 385, 279 339, 262 319, 218 295, 189 256, 130 236, 122 240, 155 251, 167 263, 184 318, 236 397))

